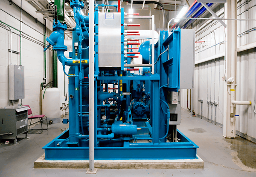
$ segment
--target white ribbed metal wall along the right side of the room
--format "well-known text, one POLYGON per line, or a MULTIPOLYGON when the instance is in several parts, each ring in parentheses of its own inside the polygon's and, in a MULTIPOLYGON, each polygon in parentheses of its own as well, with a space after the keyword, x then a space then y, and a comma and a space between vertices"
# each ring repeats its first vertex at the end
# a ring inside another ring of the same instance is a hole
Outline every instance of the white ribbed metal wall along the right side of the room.
MULTIPOLYGON (((239 0, 238 1, 238 18, 241 19, 256 19, 256 7, 255 0, 239 0), (241 6, 240 6, 241 5, 241 6), (252 8, 250 8, 252 7, 252 8)), ((216 14, 220 17, 224 17, 223 5, 218 5, 213 8, 216 14)), ((211 17, 211 14, 205 12, 201 17, 211 17)), ((201 115, 201 103, 199 100, 203 100, 203 116, 207 116, 207 100, 218 103, 218 95, 220 95, 219 103, 217 106, 217 123, 223 124, 223 112, 224 112, 224 27, 217 21, 211 21, 205 25, 206 20, 197 20, 193 23, 195 29, 195 40, 203 40, 203 43, 195 44, 195 86, 193 94, 193 104, 196 114, 201 115), (203 28, 200 28, 203 26, 203 28), (217 44, 215 46, 215 44, 217 44), (209 48, 209 49, 208 49, 209 48), (212 60, 202 62, 212 58, 212 60), (214 60, 215 59, 215 60, 214 60), (207 89, 208 88, 208 89, 207 89), (199 91, 199 94, 198 94, 199 91), (215 93, 215 94, 214 94, 215 93), (208 99, 207 99, 208 95, 208 99), (215 96, 214 96, 215 95, 215 96)), ((238 21, 237 34, 255 28, 255 21, 238 21)), ((256 31, 250 31, 238 38, 238 48, 247 45, 249 43, 256 43, 256 31)), ((237 57, 237 72, 236 72, 236 100, 250 100, 254 102, 255 95, 255 60, 256 49, 249 49, 238 52, 237 57)), ((186 108, 187 91, 182 91, 182 107, 186 108)), ((214 106, 209 105, 209 119, 214 120, 215 110, 214 106), (212 111, 211 111, 212 110, 212 111)), ((236 130, 248 135, 250 137, 256 137, 256 114, 253 112, 253 104, 251 106, 236 106, 236 130)), ((221 126, 221 125, 220 125, 221 126)), ((246 136, 245 136, 246 137, 246 136)))

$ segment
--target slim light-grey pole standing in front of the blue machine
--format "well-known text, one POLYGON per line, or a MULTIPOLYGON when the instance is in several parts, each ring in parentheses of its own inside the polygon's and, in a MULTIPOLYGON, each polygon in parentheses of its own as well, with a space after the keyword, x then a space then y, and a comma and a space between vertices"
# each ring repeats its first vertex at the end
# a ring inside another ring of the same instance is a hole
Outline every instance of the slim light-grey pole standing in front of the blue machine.
POLYGON ((94 0, 89 4, 89 171, 94 171, 94 0))

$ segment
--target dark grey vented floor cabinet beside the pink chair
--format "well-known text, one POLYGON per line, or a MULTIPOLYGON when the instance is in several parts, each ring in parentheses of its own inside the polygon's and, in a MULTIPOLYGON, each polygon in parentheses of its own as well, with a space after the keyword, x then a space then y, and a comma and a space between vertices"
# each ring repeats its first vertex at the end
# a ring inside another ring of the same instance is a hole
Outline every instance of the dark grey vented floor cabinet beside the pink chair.
POLYGON ((2 139, 16 139, 17 135, 28 131, 28 106, 8 106, 0 108, 0 136, 2 139))

